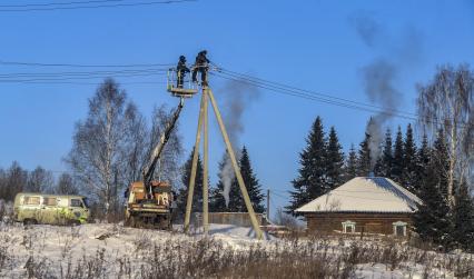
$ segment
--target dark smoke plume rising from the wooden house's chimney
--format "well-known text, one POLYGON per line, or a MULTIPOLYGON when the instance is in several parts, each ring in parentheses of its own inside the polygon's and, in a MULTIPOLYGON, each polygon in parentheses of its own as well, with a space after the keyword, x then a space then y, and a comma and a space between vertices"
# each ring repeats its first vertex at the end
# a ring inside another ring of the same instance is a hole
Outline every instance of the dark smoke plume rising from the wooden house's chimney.
POLYGON ((371 118, 366 127, 366 132, 371 134, 371 165, 374 168, 381 153, 384 126, 396 113, 403 100, 396 82, 399 68, 419 63, 422 34, 413 27, 407 27, 396 41, 391 42, 392 38, 386 36, 384 28, 366 13, 350 17, 349 22, 366 47, 386 52, 361 69, 364 92, 368 100, 377 106, 377 110, 381 110, 371 118))

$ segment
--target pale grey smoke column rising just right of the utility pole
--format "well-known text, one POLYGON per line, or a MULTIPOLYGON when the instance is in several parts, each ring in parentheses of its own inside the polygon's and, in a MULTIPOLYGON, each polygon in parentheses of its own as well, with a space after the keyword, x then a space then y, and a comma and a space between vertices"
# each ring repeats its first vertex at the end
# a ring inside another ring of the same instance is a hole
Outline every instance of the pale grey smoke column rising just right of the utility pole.
MULTIPOLYGON (((245 130, 243 123, 244 112, 253 101, 258 99, 259 91, 250 84, 234 80, 228 81, 221 91, 223 98, 225 98, 224 122, 236 158, 239 158, 239 138, 245 130)), ((225 157, 224 167, 219 177, 224 183, 223 196, 228 207, 230 200, 230 186, 235 178, 235 172, 228 152, 226 152, 225 157)))

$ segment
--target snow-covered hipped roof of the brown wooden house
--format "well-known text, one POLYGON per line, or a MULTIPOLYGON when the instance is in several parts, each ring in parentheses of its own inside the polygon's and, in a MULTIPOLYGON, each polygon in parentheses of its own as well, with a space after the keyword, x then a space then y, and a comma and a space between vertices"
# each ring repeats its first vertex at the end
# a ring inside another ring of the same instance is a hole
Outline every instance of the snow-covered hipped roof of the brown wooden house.
POLYGON ((414 212, 418 197, 383 177, 356 177, 296 212, 414 212))

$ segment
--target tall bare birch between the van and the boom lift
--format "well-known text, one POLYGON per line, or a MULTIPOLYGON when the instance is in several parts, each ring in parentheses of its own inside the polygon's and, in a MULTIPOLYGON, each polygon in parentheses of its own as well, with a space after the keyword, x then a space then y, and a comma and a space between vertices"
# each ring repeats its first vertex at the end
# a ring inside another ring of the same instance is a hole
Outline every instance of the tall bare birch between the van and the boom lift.
POLYGON ((126 92, 112 79, 106 79, 89 99, 85 121, 76 124, 72 150, 66 161, 78 182, 90 192, 109 216, 122 188, 120 167, 125 148, 126 92))

